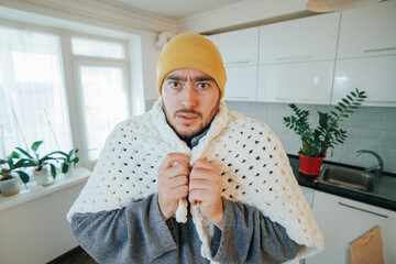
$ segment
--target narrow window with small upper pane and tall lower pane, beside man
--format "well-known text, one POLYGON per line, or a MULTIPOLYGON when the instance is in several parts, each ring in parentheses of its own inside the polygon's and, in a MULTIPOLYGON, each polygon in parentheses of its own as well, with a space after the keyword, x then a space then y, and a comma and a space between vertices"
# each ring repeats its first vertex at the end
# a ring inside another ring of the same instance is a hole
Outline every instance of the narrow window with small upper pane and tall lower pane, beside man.
POLYGON ((114 125, 130 117, 125 45, 72 37, 88 161, 96 161, 114 125))

